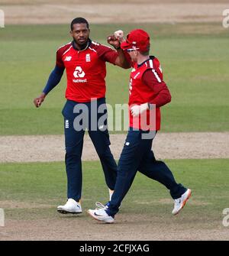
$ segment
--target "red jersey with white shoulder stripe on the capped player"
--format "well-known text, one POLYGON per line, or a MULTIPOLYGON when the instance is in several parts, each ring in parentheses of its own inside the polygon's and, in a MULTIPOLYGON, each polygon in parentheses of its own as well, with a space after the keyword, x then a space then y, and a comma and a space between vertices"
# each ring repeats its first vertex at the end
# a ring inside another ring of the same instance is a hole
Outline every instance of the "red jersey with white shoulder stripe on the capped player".
POLYGON ((160 62, 156 57, 150 57, 140 66, 134 63, 129 92, 130 109, 133 105, 141 105, 146 102, 156 105, 156 109, 147 110, 147 112, 137 117, 133 117, 129 112, 130 127, 142 130, 160 130, 160 106, 169 102, 171 96, 166 83, 163 82, 160 62), (146 79, 149 79, 149 77, 151 84, 147 84, 146 79))

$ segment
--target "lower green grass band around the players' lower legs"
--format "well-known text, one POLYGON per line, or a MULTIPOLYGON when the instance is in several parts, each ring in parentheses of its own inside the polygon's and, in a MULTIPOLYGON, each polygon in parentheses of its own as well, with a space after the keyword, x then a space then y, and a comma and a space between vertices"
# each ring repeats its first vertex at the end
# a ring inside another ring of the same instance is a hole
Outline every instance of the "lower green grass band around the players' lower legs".
MULTIPOLYGON (((192 198, 182 216, 197 227, 216 228, 221 225, 222 211, 228 207, 229 160, 166 160, 176 180, 192 188, 192 198)), ((6 219, 56 218, 56 206, 66 199, 66 173, 63 163, 0 164, 0 201, 12 200, 15 209, 5 208, 6 219), (22 203, 22 205, 21 205, 22 203), (27 209, 23 203, 47 205, 27 209)), ((108 190, 98 161, 83 163, 83 208, 95 201, 106 203, 108 190)), ((121 213, 158 216, 164 222, 171 219, 173 201, 160 183, 138 173, 124 199, 121 213), (140 206, 137 207, 136 206, 140 206)), ((0 206, 1 207, 1 206, 0 206)), ((84 213, 83 218, 87 218, 84 213)), ((190 224, 189 223, 189 224, 190 224)))

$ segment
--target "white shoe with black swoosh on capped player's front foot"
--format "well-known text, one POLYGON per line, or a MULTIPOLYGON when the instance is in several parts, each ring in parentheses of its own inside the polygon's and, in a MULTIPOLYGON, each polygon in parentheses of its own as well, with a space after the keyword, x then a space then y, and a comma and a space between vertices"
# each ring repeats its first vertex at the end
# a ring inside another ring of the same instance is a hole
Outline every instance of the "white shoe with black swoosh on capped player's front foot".
POLYGON ((96 209, 89 209, 88 213, 92 216, 92 218, 98 220, 99 222, 105 222, 105 223, 113 223, 114 222, 114 216, 108 215, 106 212, 106 209, 108 209, 108 206, 104 206, 102 203, 96 202, 95 203, 98 208, 96 209))

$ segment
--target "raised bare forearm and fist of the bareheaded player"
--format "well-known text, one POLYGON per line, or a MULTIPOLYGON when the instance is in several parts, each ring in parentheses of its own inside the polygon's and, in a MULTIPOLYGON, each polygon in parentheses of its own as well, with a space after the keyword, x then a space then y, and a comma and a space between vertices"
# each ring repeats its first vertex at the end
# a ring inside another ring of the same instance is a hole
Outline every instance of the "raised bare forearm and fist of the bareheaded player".
POLYGON ((124 51, 120 48, 121 42, 117 37, 114 37, 114 35, 111 35, 107 38, 108 44, 111 44, 118 52, 118 57, 115 60, 115 65, 121 66, 124 69, 129 69, 131 67, 131 62, 127 60, 127 57, 125 56, 124 51))

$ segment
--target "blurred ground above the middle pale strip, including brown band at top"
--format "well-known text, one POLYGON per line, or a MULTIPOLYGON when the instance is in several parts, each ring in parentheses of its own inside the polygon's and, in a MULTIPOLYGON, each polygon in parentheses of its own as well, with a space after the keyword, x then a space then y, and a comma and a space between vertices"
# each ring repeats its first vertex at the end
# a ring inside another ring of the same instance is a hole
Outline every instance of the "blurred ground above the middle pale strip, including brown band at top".
MULTIPOLYGON (((56 49, 71 41, 69 24, 78 16, 102 44, 118 29, 149 32, 150 53, 159 58, 173 97, 163 108, 163 131, 228 130, 229 28, 222 25, 227 8, 224 0, 0 0, 0 134, 62 133, 66 78, 42 108, 35 109, 33 99, 55 65, 56 49)), ((129 72, 107 66, 107 102, 126 103, 129 72)))

